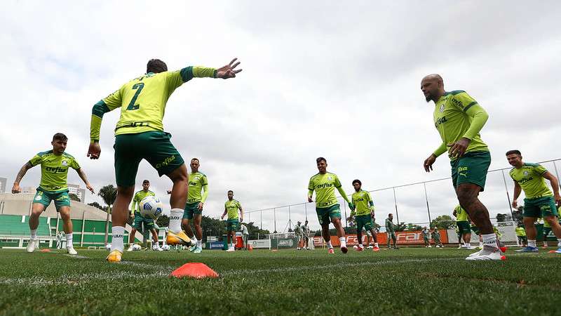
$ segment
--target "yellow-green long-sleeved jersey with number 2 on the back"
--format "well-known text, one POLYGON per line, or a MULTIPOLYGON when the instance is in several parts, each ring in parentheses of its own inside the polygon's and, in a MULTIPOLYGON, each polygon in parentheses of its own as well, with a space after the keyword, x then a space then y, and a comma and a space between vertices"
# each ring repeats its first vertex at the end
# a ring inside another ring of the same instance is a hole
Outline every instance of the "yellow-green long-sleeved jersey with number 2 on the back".
POLYGON ((216 77, 208 67, 186 67, 173 72, 149 72, 111 93, 93 106, 90 140, 100 139, 103 114, 121 108, 115 135, 163 131, 165 104, 175 89, 194 77, 216 77))

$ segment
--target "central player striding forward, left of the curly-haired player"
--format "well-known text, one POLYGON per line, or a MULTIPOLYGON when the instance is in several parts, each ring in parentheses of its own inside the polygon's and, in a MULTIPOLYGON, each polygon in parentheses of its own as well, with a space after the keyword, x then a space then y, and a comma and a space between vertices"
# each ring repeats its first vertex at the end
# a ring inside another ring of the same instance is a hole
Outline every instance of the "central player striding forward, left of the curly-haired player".
POLYGON ((308 183, 308 202, 313 202, 311 197, 315 190, 316 213, 318 214, 318 220, 321 225, 323 239, 327 242, 327 253, 334 254, 331 236, 329 234, 329 223, 331 221, 337 231, 337 237, 339 237, 339 243, 341 244, 341 251, 343 254, 346 254, 349 249, 346 248, 345 231, 341 224, 341 209, 339 208, 337 197, 335 197, 334 189, 337 188, 339 194, 349 203, 351 210, 355 207, 353 203, 349 201, 349 197, 346 196, 337 175, 327 172, 327 160, 323 157, 319 157, 316 159, 316 165, 319 172, 312 176, 308 183))

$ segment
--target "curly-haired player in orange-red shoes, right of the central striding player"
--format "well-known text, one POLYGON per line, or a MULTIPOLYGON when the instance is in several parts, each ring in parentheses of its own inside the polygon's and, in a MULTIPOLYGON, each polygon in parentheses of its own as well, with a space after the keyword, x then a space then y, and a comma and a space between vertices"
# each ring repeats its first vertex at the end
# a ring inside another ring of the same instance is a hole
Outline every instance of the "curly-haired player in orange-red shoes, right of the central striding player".
MULTIPOLYGON (((360 180, 353 180, 353 187, 355 192, 353 193, 351 199, 355 209, 351 211, 351 217, 356 219, 356 237, 358 239, 358 251, 363 251, 363 229, 366 232, 370 232, 369 236, 374 239, 374 251, 379 251, 378 239, 376 232, 374 232, 374 225, 372 223, 372 217, 374 217, 374 202, 370 196, 370 192, 362 190, 363 183, 360 180)), ((370 240, 368 241, 370 246, 370 240)))

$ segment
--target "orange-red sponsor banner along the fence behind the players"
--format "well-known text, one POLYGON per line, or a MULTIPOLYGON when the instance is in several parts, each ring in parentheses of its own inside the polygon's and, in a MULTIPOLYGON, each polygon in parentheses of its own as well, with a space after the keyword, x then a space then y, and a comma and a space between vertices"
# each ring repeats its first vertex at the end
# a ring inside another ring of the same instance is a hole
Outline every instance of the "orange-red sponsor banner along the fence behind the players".
MULTIPOLYGON (((448 243, 448 235, 446 230, 438 230, 440 232, 440 242, 442 244, 448 243)), ((368 244, 367 235, 363 234, 363 244, 368 244)), ((378 239, 378 244, 384 245, 388 244, 388 235, 385 232, 379 232, 376 235, 378 239)), ((398 244, 424 244, 423 241, 423 233, 420 230, 412 231, 412 232, 396 232, 396 238, 398 244)), ((323 244, 323 237, 313 237, 313 245, 314 246, 322 246, 323 244)), ((370 240, 370 242, 374 243, 374 241, 370 240)), ((331 236, 331 244, 333 246, 339 246, 339 237, 331 236)), ((358 237, 356 234, 349 234, 346 235, 346 244, 347 246, 354 246, 358 244, 358 237)), ((433 240, 431 239, 431 244, 434 244, 433 240)))

